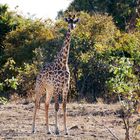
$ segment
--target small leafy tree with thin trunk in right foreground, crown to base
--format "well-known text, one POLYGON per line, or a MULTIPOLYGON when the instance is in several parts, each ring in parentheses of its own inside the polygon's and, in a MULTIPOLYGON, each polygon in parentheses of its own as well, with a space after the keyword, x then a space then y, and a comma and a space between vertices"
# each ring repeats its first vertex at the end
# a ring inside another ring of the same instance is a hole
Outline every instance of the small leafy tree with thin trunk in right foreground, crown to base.
POLYGON ((136 105, 140 97, 139 80, 133 71, 133 60, 130 58, 112 58, 110 72, 113 77, 108 81, 110 89, 117 94, 122 105, 121 117, 125 127, 125 139, 129 139, 130 117, 136 111, 136 105))

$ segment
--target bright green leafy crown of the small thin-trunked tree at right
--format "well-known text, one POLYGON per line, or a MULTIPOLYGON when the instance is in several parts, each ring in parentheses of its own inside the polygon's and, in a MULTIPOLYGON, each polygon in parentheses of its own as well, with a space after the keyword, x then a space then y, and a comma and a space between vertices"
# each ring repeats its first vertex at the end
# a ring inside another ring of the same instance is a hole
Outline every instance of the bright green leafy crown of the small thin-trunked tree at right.
POLYGON ((133 73, 133 61, 125 57, 113 58, 112 61, 114 65, 110 66, 110 72, 114 77, 109 81, 112 92, 131 97, 133 92, 139 90, 138 79, 133 73))

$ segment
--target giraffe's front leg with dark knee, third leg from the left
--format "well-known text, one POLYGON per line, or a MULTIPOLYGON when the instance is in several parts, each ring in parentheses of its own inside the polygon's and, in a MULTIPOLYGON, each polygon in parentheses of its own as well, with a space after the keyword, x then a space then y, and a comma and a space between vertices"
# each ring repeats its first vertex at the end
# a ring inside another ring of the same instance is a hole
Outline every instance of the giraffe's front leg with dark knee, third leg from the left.
POLYGON ((59 110, 59 103, 58 103, 58 95, 55 95, 55 134, 59 135, 58 129, 58 110, 59 110))

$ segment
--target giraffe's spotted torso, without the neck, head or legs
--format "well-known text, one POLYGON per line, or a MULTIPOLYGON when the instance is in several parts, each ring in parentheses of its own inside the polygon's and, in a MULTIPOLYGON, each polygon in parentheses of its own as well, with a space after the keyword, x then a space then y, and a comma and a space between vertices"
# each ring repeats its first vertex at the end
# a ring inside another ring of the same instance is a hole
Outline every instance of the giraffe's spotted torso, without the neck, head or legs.
POLYGON ((52 96, 55 96, 55 90, 61 90, 62 93, 63 88, 65 84, 69 82, 69 79, 70 72, 68 66, 65 69, 57 68, 56 70, 56 64, 51 63, 43 68, 43 70, 37 76, 35 89, 37 91, 36 94, 46 94, 46 91, 49 89, 53 91, 52 96))

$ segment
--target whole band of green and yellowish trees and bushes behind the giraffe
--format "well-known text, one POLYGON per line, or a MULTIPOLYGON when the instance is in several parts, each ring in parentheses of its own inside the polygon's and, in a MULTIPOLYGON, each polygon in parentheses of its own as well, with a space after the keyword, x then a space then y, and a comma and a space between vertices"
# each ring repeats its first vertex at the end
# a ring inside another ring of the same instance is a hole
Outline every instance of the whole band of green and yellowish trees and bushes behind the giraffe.
POLYGON ((39 69, 63 44, 63 17, 72 11, 80 22, 72 33, 69 100, 110 102, 119 94, 139 101, 139 5, 138 0, 74 0, 56 22, 25 18, 0 5, 0 96, 33 94, 39 69))

